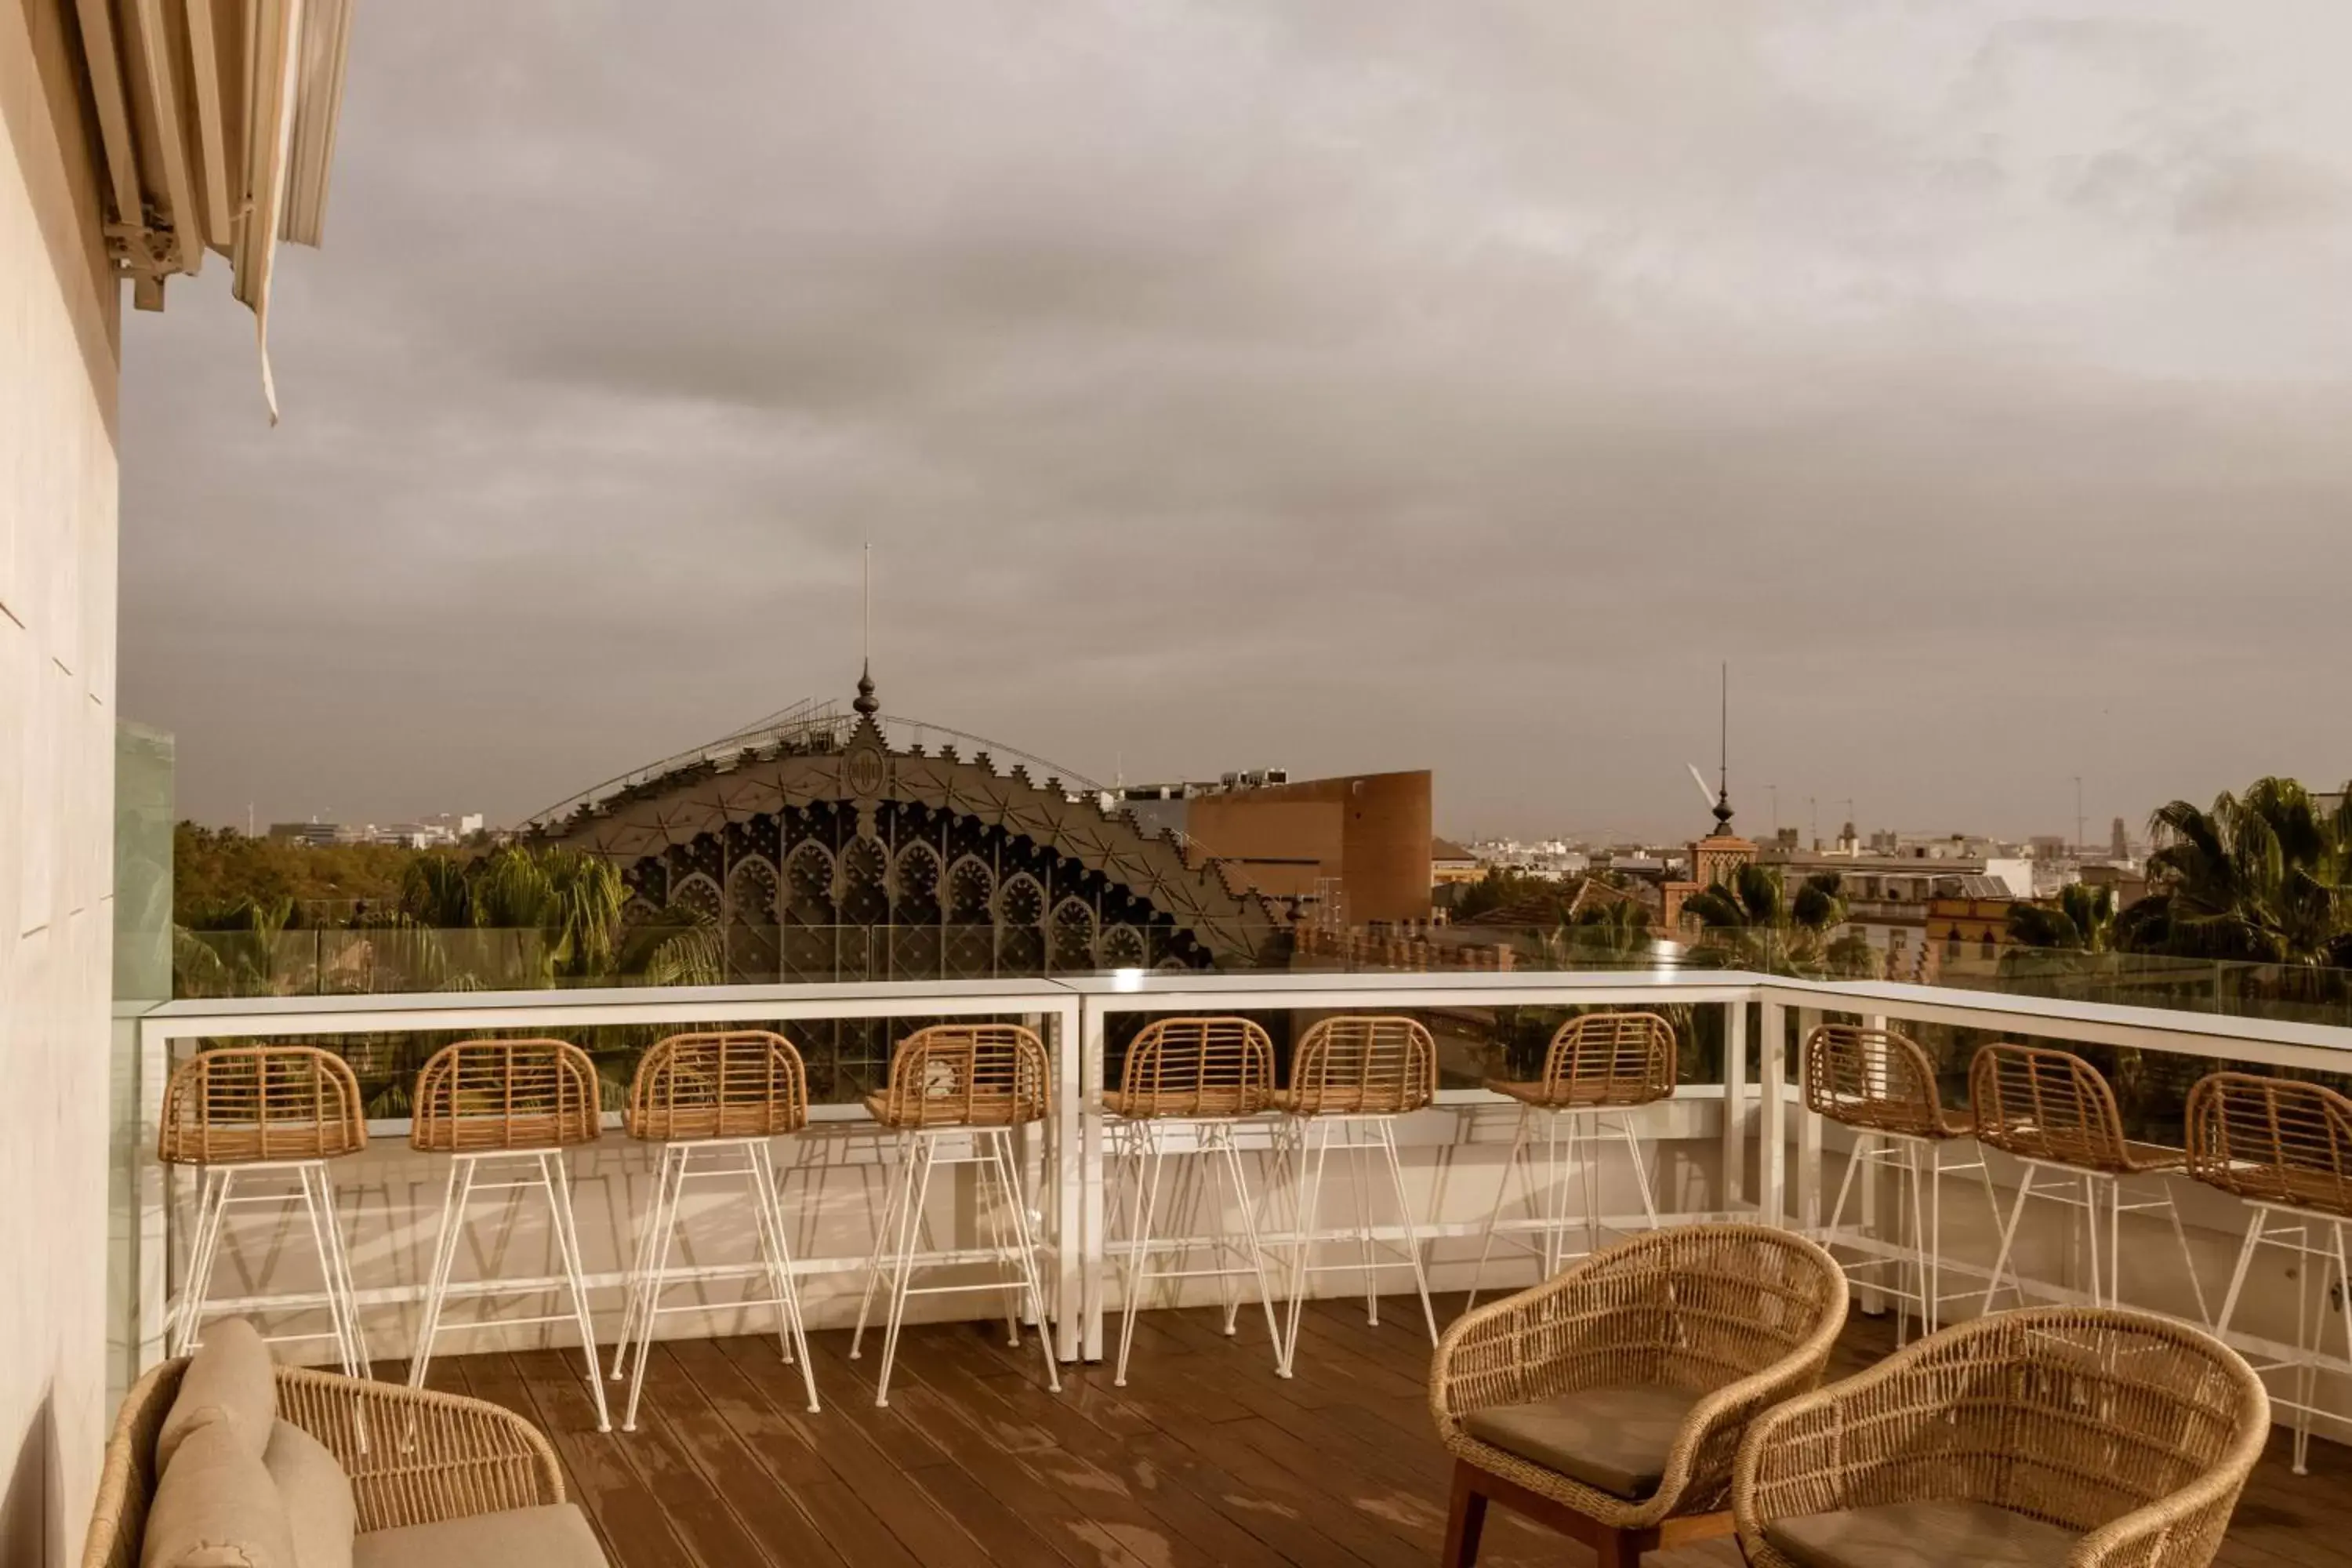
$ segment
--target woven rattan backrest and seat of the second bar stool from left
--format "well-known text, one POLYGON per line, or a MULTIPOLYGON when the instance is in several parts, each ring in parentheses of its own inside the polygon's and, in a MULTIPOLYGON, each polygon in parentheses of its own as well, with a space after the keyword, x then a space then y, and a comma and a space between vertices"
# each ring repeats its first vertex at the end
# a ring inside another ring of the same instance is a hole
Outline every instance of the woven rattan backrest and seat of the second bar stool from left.
POLYGON ((564 1039, 461 1039, 416 1074, 409 1145, 437 1154, 595 1143, 595 1063, 564 1039))

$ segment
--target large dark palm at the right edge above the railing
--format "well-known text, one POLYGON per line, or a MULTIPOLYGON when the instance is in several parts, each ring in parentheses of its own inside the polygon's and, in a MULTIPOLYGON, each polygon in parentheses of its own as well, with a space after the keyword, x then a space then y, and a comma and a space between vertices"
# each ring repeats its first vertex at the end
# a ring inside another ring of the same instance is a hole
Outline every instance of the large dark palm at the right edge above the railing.
POLYGON ((2150 823, 2152 893, 2122 917, 2140 952, 2300 969, 2352 964, 2352 795, 2321 811, 2293 778, 2176 799, 2150 823))

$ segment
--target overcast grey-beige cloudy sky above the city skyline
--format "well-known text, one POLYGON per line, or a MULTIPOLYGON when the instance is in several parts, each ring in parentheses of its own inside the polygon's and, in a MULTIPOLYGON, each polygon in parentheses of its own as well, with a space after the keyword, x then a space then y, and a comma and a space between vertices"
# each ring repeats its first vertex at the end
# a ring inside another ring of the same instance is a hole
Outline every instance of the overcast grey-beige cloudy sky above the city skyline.
POLYGON ((360 0, 270 430, 125 324, 181 809, 849 696, 1442 832, 2352 773, 2340 0, 360 0))

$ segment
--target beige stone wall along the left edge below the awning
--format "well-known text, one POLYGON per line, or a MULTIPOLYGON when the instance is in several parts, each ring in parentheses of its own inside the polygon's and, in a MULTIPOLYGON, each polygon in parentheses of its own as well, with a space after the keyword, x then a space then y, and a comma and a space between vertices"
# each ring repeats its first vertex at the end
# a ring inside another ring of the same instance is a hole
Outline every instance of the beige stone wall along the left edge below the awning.
POLYGON ((106 1446, 118 287, 71 7, 0 7, 0 1561, 106 1446))

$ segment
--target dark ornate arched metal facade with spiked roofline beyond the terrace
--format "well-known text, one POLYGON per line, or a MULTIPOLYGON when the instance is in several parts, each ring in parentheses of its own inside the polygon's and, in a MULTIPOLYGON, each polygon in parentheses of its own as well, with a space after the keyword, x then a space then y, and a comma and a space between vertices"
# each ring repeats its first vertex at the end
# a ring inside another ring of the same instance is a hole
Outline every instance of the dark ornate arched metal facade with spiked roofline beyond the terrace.
POLYGON ((1216 863, 985 752, 891 750, 863 701, 837 738, 699 759, 539 839, 612 860, 633 910, 724 926, 743 983, 1256 969, 1289 943, 1216 863))

